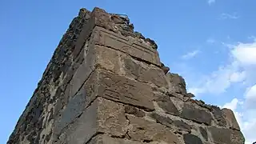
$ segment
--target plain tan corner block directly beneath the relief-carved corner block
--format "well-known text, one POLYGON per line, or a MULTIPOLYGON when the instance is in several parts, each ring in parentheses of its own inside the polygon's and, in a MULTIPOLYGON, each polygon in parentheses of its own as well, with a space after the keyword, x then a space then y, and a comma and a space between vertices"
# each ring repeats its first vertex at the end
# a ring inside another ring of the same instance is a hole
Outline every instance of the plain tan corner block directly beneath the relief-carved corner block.
POLYGON ((56 127, 54 131, 62 131, 62 134, 57 134, 58 143, 83 144, 98 133, 124 137, 128 124, 124 106, 97 98, 82 114, 70 121, 68 126, 56 127))

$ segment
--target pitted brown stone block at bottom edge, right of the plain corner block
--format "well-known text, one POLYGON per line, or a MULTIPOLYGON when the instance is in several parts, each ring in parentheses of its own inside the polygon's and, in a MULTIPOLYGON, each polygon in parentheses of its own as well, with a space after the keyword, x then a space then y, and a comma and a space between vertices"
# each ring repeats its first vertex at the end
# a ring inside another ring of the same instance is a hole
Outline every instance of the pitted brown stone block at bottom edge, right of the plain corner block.
POLYGON ((143 118, 136 118, 133 116, 128 116, 130 120, 131 130, 128 134, 131 140, 139 142, 167 142, 170 144, 181 144, 174 133, 166 129, 166 127, 161 124, 146 121, 143 118))

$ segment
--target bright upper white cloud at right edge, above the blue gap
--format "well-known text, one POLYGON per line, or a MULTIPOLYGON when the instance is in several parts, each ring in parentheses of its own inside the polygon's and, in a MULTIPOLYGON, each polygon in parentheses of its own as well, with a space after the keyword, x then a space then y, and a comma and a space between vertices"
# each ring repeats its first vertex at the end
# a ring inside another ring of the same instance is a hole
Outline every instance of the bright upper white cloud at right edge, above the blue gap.
POLYGON ((220 66, 218 70, 206 78, 201 78, 200 84, 190 86, 189 90, 195 95, 202 93, 221 94, 234 83, 250 84, 256 82, 254 74, 256 71, 256 41, 224 45, 228 46, 230 50, 230 62, 226 66, 220 66))

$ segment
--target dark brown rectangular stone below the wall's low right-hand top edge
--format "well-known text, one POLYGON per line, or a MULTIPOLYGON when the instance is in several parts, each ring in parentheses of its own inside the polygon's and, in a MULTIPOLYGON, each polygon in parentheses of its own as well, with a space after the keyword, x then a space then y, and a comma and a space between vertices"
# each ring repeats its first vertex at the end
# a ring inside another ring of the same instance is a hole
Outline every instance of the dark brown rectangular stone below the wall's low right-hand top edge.
POLYGON ((209 112, 188 102, 184 104, 181 116, 182 118, 190 119, 199 123, 205 123, 206 125, 210 125, 213 120, 209 112))

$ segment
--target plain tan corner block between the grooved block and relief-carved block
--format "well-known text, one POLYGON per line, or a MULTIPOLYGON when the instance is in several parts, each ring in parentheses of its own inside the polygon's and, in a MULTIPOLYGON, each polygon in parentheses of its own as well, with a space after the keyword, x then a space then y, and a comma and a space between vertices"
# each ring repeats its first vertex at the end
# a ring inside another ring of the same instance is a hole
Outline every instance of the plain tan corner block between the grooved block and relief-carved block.
POLYGON ((120 72, 118 51, 90 43, 89 46, 84 46, 83 53, 84 61, 70 81, 70 92, 68 93, 70 97, 78 92, 97 66, 116 74, 120 72))

